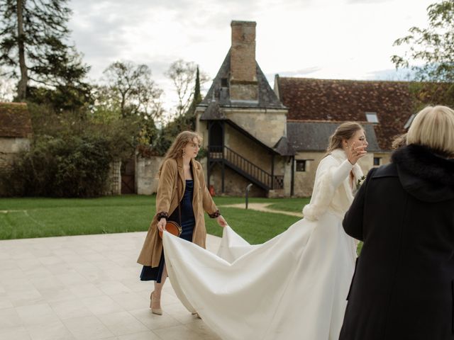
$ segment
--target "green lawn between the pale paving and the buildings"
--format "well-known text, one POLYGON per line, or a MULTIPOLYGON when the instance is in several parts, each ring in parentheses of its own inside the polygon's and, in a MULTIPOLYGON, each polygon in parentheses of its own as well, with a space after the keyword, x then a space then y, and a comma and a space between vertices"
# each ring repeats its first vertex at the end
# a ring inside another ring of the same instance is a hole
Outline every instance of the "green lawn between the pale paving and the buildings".
MULTIPOLYGON (((244 198, 216 197, 216 205, 244 203, 244 198)), ((307 199, 250 198, 270 208, 300 212, 307 199)), ((283 232, 298 217, 238 208, 220 208, 233 229, 252 244, 283 232)), ((155 215, 155 196, 76 198, 0 198, 0 239, 145 231, 155 215)), ((206 217, 210 234, 221 227, 206 217)))

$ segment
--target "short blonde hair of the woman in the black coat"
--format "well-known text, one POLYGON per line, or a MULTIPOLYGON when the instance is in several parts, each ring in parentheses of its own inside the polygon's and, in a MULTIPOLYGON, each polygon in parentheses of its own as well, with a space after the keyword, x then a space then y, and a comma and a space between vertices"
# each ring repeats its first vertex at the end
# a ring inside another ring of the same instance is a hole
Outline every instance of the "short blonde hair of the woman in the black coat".
POLYGON ((454 156, 454 111, 448 106, 427 106, 414 118, 406 134, 406 144, 425 145, 454 156))

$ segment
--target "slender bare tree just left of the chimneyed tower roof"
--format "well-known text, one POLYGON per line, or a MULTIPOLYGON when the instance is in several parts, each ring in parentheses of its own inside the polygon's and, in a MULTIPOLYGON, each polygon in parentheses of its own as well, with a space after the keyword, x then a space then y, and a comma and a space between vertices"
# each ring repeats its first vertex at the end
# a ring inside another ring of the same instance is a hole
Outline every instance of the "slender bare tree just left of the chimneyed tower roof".
MULTIPOLYGON (((172 79, 177 91, 178 103, 176 108, 177 117, 187 112, 194 96, 194 84, 196 79, 197 65, 194 62, 177 60, 172 62, 165 75, 172 79)), ((200 84, 209 81, 207 74, 201 72, 200 84)))

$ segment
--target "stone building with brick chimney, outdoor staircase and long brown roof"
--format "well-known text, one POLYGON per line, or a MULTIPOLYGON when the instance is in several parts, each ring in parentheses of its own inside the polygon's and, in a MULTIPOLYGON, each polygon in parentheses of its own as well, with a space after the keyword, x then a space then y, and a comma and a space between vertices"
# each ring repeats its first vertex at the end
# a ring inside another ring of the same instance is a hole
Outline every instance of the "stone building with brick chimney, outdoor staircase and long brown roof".
POLYGON ((347 120, 365 128, 365 174, 389 162, 393 137, 414 113, 409 83, 276 75, 272 89, 255 61, 255 26, 232 21, 231 48, 196 108, 216 195, 241 196, 253 183, 253 196, 310 196, 328 138, 347 120))

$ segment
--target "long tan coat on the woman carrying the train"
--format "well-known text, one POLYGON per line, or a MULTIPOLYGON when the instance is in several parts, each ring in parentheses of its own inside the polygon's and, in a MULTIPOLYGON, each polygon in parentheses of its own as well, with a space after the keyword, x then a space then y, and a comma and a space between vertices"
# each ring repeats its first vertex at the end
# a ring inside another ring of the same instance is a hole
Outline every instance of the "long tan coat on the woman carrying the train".
MULTIPOLYGON (((194 177, 194 192, 192 194, 192 208, 196 225, 192 234, 192 242, 205 248, 206 228, 204 211, 210 217, 218 215, 218 209, 206 188, 204 171, 201 164, 194 159, 192 162, 192 175, 194 177), (217 212, 217 213, 216 213, 217 212)), ((169 216, 178 208, 182 200, 186 180, 184 179, 183 159, 167 159, 162 165, 161 176, 157 184, 156 215, 153 217, 147 237, 140 251, 138 263, 144 266, 159 266, 162 253, 162 239, 157 233, 157 216, 167 213, 169 216)))

